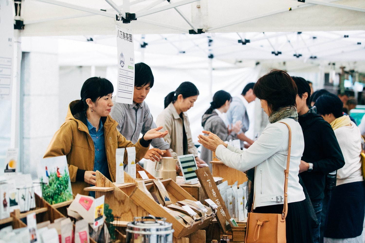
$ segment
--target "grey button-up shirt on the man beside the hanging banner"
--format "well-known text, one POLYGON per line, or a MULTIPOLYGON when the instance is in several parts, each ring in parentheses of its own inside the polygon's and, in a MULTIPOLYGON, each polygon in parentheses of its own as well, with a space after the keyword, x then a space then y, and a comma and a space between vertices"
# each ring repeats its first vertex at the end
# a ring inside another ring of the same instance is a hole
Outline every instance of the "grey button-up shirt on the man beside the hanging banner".
MULTIPOLYGON (((133 103, 132 105, 115 102, 110 116, 118 122, 117 129, 120 133, 133 143, 138 141, 139 134, 145 134, 148 130, 157 128, 150 109, 144 101, 141 104, 133 103)), ((161 150, 170 148, 163 138, 153 139, 151 145, 161 150)))

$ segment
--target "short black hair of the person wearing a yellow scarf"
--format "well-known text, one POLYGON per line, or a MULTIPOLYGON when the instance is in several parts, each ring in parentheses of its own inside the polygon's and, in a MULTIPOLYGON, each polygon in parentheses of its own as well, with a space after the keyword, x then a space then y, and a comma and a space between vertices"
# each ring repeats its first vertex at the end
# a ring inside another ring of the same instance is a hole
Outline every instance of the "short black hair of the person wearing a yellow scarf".
POLYGON ((317 113, 320 115, 333 114, 335 118, 343 116, 342 106, 343 103, 337 95, 325 94, 318 97, 315 106, 317 107, 317 113))

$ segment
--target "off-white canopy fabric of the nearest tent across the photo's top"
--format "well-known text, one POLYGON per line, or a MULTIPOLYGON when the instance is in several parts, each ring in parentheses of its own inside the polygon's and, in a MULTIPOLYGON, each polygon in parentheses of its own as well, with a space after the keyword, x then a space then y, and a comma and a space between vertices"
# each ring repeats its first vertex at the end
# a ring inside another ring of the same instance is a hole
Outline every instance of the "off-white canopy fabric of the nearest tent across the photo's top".
MULTIPOLYGON (((131 1, 131 13, 138 14, 144 11, 146 6, 155 2, 155 0, 145 0, 133 4, 138 1, 131 1)), ((181 0, 172 0, 171 3, 179 1, 181 0)), ((363 0, 318 1, 365 8, 363 0)), ((116 13, 103 0, 61 0, 59 2, 96 10, 107 9, 107 12, 116 13)), ((122 6, 122 0, 114 2, 122 6)), ((167 1, 160 1, 154 8, 168 4, 167 1)), ((361 11, 299 3, 295 0, 200 0, 180 6, 178 9, 187 16, 194 27, 205 29, 207 32, 364 30, 365 23, 365 13, 361 11), (293 10, 289 11, 290 8, 293 10), (264 16, 270 13, 271 15, 264 16), (254 19, 257 16, 260 18, 254 19), (237 23, 239 20, 248 19, 252 20, 237 23), (234 21, 236 24, 225 26, 234 21)), ((24 1, 22 18, 25 24, 22 36, 110 35, 115 30, 114 19, 111 17, 37 0, 24 1)), ((131 28, 134 34, 188 33, 188 30, 192 29, 175 9, 139 17, 131 22, 131 28)))

